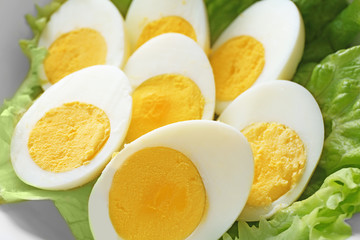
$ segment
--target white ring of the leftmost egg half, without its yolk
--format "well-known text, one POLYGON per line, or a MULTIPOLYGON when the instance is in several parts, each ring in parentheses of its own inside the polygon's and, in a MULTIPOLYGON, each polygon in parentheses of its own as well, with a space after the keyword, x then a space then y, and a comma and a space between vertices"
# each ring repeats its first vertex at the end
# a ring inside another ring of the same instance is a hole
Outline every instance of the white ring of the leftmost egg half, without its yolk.
POLYGON ((72 73, 52 85, 17 124, 11 141, 11 162, 18 177, 34 187, 62 190, 83 185, 97 177, 125 138, 131 118, 131 87, 114 66, 92 66, 72 73), (31 158, 28 141, 35 124, 52 108, 82 102, 102 109, 110 122, 110 136, 89 164, 67 172, 50 172, 31 158))

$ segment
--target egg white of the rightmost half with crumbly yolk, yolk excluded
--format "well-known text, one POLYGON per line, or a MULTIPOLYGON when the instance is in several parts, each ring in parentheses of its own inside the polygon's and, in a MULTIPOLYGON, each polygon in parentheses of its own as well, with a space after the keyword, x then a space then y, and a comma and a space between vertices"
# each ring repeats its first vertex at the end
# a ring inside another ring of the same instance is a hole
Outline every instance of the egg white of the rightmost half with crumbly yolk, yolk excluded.
POLYGON ((324 143, 320 108, 311 93, 299 84, 273 80, 254 86, 238 96, 220 115, 219 121, 243 130, 252 123, 276 122, 294 130, 307 155, 302 177, 292 189, 271 205, 246 205, 240 219, 257 221, 294 202, 303 192, 319 161, 324 143))

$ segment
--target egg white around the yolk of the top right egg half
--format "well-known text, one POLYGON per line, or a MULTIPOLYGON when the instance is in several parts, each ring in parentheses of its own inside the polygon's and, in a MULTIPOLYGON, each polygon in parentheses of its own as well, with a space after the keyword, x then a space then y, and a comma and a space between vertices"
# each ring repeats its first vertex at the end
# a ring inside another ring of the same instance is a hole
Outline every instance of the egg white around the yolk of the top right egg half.
MULTIPOLYGON (((265 65, 254 85, 293 77, 303 54, 305 31, 301 14, 292 1, 254 3, 225 29, 212 51, 238 36, 255 38, 265 50, 265 65)), ((217 100, 216 113, 220 114, 230 102, 217 100)))

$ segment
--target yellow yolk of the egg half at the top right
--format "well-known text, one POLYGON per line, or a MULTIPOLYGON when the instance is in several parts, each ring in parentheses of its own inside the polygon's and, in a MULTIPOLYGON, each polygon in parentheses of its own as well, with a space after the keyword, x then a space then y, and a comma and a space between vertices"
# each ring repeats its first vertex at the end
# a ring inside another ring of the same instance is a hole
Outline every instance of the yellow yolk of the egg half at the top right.
POLYGON ((263 45, 250 36, 230 39, 210 56, 214 71, 216 99, 234 100, 250 88, 265 65, 263 45))

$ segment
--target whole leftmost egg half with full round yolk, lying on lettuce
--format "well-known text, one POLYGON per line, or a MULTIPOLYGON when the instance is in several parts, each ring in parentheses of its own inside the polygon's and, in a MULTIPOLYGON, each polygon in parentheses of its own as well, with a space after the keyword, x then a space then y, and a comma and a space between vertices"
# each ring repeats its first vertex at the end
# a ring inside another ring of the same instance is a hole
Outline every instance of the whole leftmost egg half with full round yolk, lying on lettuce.
POLYGON ((92 66, 50 87, 17 124, 11 162, 34 187, 61 190, 97 177, 121 146, 131 87, 117 67, 92 66))

